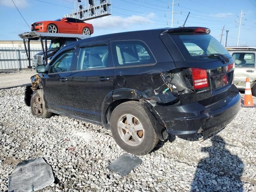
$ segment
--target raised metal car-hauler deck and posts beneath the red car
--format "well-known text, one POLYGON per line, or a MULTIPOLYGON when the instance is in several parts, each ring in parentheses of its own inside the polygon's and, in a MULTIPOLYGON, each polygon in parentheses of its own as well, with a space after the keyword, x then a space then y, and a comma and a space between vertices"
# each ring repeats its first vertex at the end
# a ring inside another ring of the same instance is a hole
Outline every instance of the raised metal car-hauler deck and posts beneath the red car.
MULTIPOLYGON (((47 40, 51 40, 51 41, 52 40, 60 40, 60 39, 62 39, 62 40, 63 39, 80 40, 80 39, 89 38, 90 35, 66 34, 66 33, 44 33, 44 32, 32 31, 32 32, 25 32, 25 33, 19 34, 19 37, 23 39, 24 47, 26 50, 26 56, 28 58, 28 68, 32 68, 31 60, 30 60, 30 58, 31 58, 31 56, 30 56, 30 41, 31 40, 40 40, 41 45, 42 45, 42 54, 44 56, 44 61, 45 61, 44 64, 47 65, 47 63, 48 63, 47 40), (26 42, 28 42, 28 48, 27 48, 26 42)), ((43 64, 43 63, 41 63, 41 64, 43 64)), ((35 67, 36 67, 36 65, 35 65, 35 67)))

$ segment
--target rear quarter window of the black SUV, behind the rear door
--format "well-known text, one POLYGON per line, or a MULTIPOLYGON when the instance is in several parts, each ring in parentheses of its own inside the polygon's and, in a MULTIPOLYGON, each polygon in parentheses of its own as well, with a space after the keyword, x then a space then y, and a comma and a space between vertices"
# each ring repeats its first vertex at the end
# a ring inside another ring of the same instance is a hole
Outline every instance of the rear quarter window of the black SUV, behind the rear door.
POLYGON ((154 64, 156 62, 148 46, 142 41, 128 40, 112 42, 112 44, 117 66, 154 64))

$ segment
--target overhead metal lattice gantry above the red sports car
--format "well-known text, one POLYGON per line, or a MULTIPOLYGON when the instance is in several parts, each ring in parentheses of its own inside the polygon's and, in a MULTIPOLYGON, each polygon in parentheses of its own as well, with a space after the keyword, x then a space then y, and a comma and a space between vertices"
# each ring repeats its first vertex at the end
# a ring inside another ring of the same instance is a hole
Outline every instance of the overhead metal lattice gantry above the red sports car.
POLYGON ((111 0, 75 0, 74 9, 70 14, 65 14, 65 17, 86 21, 111 14, 111 0))

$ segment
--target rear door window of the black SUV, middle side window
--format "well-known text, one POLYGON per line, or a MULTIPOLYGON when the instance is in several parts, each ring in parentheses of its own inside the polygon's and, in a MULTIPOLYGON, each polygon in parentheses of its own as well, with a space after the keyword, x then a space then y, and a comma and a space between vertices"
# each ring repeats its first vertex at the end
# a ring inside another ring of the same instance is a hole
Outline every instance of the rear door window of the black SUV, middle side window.
POLYGON ((106 68, 108 62, 108 46, 88 46, 80 48, 76 70, 106 68))

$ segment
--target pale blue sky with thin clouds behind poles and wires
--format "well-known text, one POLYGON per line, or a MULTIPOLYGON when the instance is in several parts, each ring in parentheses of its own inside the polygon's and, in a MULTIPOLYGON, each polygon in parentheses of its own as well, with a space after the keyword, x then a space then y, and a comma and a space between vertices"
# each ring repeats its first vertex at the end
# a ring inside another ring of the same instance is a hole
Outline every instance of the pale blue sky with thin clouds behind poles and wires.
MULTIPOLYGON (((84 0, 82 0, 84 1, 84 0)), ((55 20, 70 13, 73 0, 14 0, 20 12, 30 25, 36 21, 55 20), (46 3, 48 2, 48 3, 46 3), (52 4, 49 4, 52 3, 52 4), (57 4, 57 5, 53 5, 57 4)), ((106 16, 89 23, 94 24, 94 36, 101 34, 170 27, 172 0, 112 0, 112 16, 106 16), (165 17, 166 15, 166 17, 165 17)), ((176 4, 177 5, 177 4, 176 4)), ((243 10, 243 20, 239 45, 256 46, 256 0, 180 0, 174 19, 174 26, 181 26, 190 11, 186 26, 204 26, 220 40, 221 29, 225 25, 222 44, 228 33, 228 46, 236 46, 238 25, 235 20, 243 10)), ((11 0, 0 0, 0 40, 19 40, 18 34, 30 29, 13 6, 11 0)))

